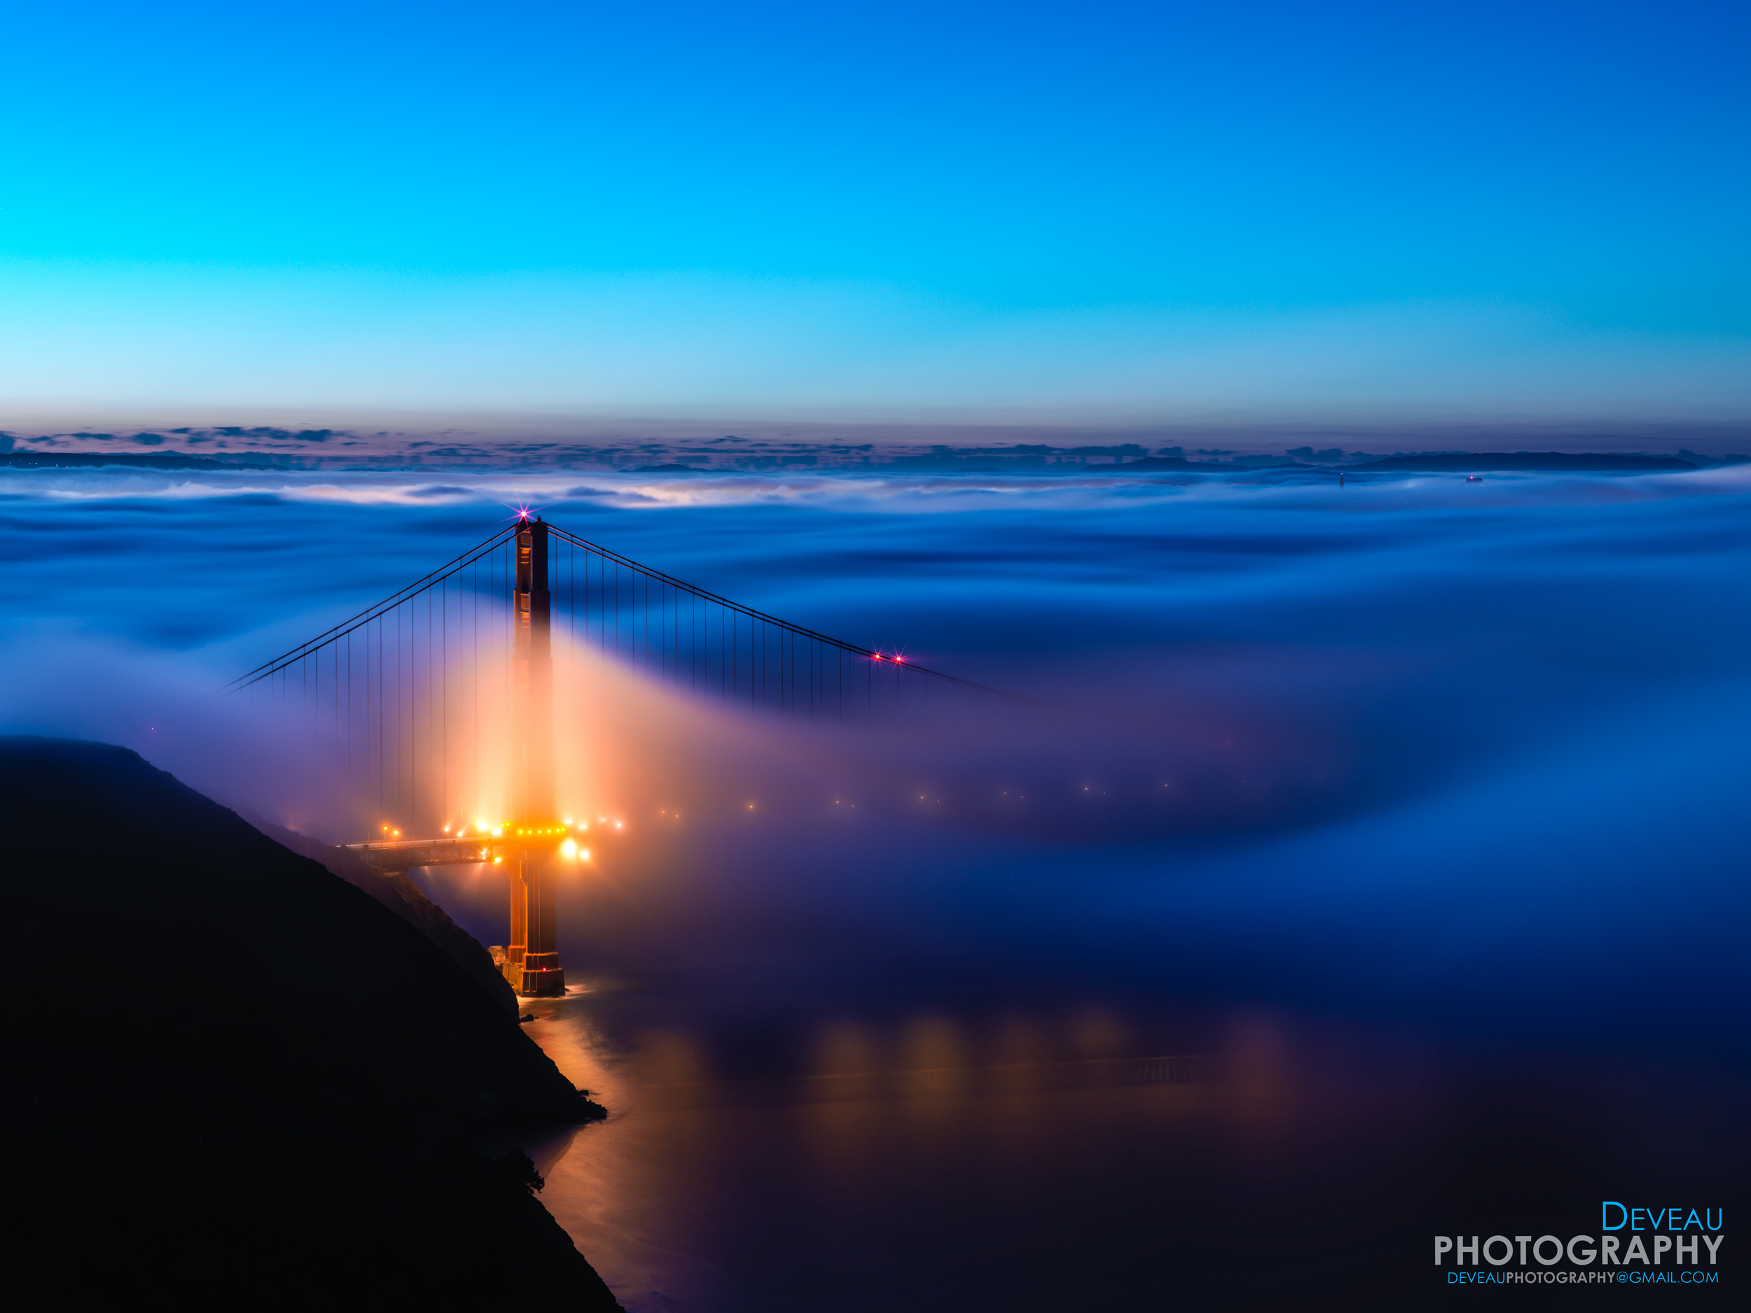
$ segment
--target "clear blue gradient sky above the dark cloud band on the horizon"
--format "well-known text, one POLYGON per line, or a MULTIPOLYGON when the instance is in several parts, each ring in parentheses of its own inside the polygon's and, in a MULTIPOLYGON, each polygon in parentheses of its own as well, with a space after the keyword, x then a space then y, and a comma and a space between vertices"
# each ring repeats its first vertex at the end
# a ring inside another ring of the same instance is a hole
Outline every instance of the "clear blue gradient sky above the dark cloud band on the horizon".
POLYGON ((1746 417, 1746 28, 39 7, 0 406, 1746 417))

